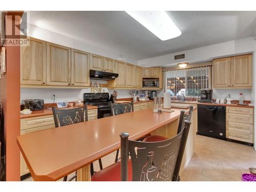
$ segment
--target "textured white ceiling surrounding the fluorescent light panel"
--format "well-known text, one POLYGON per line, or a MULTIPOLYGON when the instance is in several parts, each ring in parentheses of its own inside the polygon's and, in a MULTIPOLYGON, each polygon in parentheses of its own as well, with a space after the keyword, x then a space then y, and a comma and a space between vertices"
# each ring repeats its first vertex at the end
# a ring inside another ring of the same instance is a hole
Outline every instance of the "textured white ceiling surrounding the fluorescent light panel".
POLYGON ((30 24, 144 59, 253 36, 256 11, 168 11, 182 34, 160 40, 124 11, 31 11, 30 24))

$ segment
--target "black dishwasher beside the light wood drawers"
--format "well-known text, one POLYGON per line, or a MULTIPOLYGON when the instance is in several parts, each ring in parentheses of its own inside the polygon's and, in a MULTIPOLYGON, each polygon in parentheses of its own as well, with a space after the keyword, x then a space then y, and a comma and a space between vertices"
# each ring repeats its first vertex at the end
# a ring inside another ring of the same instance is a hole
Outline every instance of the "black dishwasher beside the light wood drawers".
POLYGON ((198 135, 226 140, 226 107, 198 104, 198 135))

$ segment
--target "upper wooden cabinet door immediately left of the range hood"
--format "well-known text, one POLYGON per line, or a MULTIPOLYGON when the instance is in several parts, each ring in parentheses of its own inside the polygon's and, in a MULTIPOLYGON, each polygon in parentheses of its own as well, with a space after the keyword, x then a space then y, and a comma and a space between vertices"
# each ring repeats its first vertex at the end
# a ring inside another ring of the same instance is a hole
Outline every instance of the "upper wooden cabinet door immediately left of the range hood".
POLYGON ((72 49, 71 58, 72 86, 90 86, 90 54, 87 52, 72 49))

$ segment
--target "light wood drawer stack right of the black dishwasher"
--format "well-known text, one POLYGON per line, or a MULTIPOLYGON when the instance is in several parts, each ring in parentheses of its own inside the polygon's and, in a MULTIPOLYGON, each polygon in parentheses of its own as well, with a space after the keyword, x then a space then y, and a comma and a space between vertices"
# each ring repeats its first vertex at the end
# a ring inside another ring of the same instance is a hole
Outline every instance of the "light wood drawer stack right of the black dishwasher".
POLYGON ((253 143, 253 109, 226 107, 226 138, 253 143))

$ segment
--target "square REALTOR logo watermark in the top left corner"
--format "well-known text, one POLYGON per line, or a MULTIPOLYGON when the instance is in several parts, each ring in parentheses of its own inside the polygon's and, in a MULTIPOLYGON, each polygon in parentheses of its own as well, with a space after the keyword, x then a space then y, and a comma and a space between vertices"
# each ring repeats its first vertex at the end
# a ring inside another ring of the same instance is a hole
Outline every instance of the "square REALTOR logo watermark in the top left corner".
POLYGON ((27 12, 2 12, 0 23, 2 46, 29 46, 27 12))

